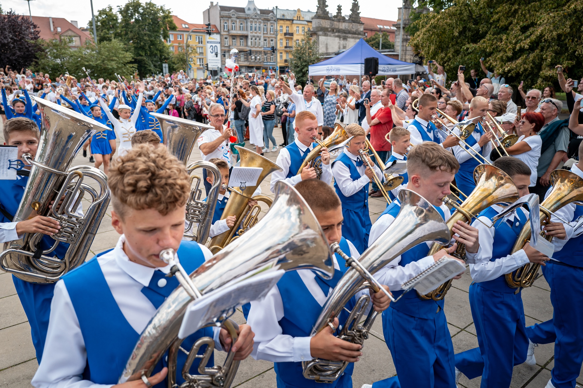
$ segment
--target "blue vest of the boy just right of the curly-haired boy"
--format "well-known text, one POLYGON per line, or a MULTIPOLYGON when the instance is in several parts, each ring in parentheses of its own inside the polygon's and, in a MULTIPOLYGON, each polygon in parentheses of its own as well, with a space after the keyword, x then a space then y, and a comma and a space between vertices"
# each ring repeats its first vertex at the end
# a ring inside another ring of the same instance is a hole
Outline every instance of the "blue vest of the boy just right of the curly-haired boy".
MULTIPOLYGON (((345 238, 340 240, 340 249, 350 255, 350 248, 345 238)), ((344 274, 347 270, 345 260, 338 255, 336 255, 336 260, 338 260, 340 272, 344 274)), ((338 273, 338 270, 336 270, 336 273, 338 273)), ((339 277, 335 276, 332 280, 324 280, 324 282, 334 288, 338 280, 339 277)), ((297 271, 289 271, 283 274, 278 281, 278 288, 283 302, 283 318, 279 321, 279 326, 282 327, 282 334, 292 337, 309 337, 312 333, 314 322, 316 322, 322 311, 322 306, 312 297, 297 271)), ((347 304, 347 308, 352 309, 354 302, 355 298, 353 297, 347 304)), ((343 311, 340 313, 338 320, 340 324, 344 324, 347 318, 348 313, 343 311)), ((278 378, 290 385, 309 388, 321 388, 322 386, 321 383, 304 378, 301 362, 276 362, 274 369, 278 374, 278 378)), ((353 369, 354 364, 350 363, 346 366, 344 373, 352 375, 353 369)), ((332 384, 326 384, 326 387, 333 388, 336 383, 338 383, 338 380, 332 384)))

